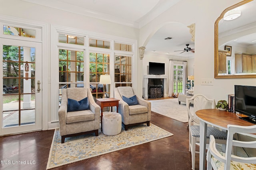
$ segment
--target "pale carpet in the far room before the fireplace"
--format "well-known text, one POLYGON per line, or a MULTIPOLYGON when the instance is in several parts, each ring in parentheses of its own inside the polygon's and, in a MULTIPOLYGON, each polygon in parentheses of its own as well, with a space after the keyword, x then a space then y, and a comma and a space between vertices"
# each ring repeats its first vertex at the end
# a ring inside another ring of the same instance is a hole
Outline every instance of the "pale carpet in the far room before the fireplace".
POLYGON ((186 103, 180 102, 179 104, 178 98, 149 101, 152 111, 184 123, 188 122, 186 103))

